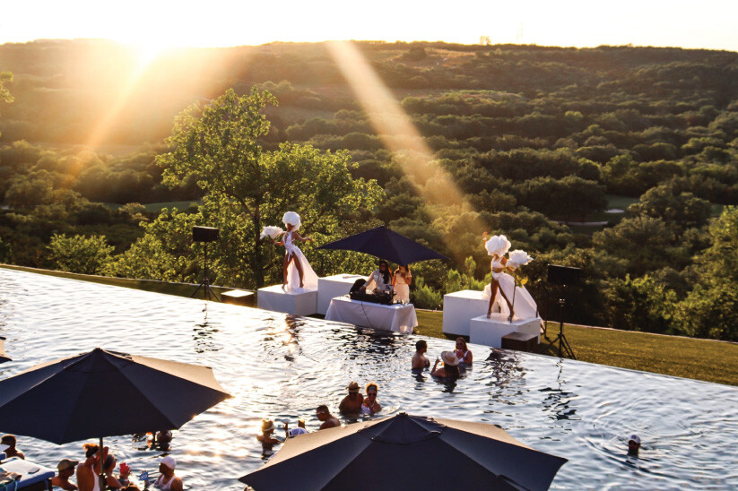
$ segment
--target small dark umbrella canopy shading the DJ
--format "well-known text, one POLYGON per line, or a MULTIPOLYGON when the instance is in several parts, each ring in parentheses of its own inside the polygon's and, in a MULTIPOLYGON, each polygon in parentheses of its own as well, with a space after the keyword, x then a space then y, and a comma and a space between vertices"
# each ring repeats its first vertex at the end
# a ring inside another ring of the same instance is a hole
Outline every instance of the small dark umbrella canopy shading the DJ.
POLYGON ((419 261, 428 261, 429 259, 448 259, 445 255, 438 254, 433 249, 420 245, 386 227, 372 228, 355 236, 321 245, 318 248, 371 254, 402 266, 419 261))

